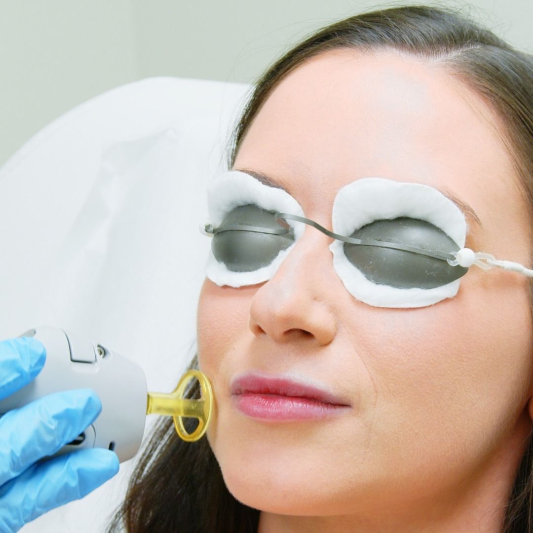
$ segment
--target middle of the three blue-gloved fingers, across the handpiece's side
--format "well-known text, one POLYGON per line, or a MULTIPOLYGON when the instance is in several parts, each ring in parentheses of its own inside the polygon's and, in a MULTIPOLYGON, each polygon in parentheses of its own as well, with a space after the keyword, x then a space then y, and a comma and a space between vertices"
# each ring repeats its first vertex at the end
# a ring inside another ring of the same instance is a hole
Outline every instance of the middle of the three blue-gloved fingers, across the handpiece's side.
POLYGON ((100 414, 91 389, 48 394, 0 418, 0 485, 74 440, 100 414))

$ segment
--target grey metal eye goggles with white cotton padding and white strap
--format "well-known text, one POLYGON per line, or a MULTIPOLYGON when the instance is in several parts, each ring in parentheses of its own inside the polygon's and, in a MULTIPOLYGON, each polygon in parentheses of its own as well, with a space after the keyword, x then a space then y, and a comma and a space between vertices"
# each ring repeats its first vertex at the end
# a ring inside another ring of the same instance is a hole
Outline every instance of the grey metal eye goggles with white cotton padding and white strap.
POLYGON ((311 225, 334 242, 334 268, 358 300, 389 308, 432 305, 453 297, 473 264, 533 277, 533 270, 464 247, 466 221, 453 201, 419 183, 379 177, 345 185, 335 198, 329 231, 305 218, 281 189, 240 171, 218 177, 208 191, 213 237, 207 277, 240 287, 270 279, 311 225), (298 213, 298 214, 294 214, 298 213))

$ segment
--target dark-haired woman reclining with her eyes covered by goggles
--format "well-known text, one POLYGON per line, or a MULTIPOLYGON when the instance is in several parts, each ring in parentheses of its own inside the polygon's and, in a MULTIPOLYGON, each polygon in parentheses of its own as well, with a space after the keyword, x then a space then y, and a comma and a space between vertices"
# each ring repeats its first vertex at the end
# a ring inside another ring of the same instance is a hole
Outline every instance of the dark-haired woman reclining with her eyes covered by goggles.
MULTIPOLYGON (((530 265, 532 81, 531 56, 454 13, 351 17, 257 82, 229 168, 330 231, 347 185, 423 184, 458 199, 467 247, 530 265)), ((473 266, 438 302, 368 303, 305 230, 268 280, 206 279, 191 366, 214 386, 208 438, 161 421, 110 530, 533 531, 530 278, 473 266), (335 407, 269 416, 239 398, 250 373, 335 407)))

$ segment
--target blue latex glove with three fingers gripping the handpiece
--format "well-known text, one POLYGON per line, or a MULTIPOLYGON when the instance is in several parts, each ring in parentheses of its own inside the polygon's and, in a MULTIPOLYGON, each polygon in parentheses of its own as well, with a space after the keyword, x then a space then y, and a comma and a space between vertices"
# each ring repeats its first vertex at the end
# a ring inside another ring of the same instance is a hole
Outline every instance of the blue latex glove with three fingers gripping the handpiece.
MULTIPOLYGON (((45 359, 44 345, 34 338, 0 342, 0 399, 32 381, 45 359)), ((102 448, 35 464, 74 440, 101 410, 94 391, 76 389, 46 395, 0 418, 0 531, 18 531, 118 472, 117 455, 102 448)))

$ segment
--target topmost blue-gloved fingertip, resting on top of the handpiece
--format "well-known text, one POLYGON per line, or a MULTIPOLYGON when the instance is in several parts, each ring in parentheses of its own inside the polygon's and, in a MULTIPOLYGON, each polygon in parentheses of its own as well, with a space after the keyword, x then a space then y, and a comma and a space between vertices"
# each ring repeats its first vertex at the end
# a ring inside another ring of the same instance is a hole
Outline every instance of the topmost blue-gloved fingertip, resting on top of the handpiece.
POLYGON ((41 372, 46 360, 44 344, 34 337, 0 342, 0 400, 22 389, 41 372))

